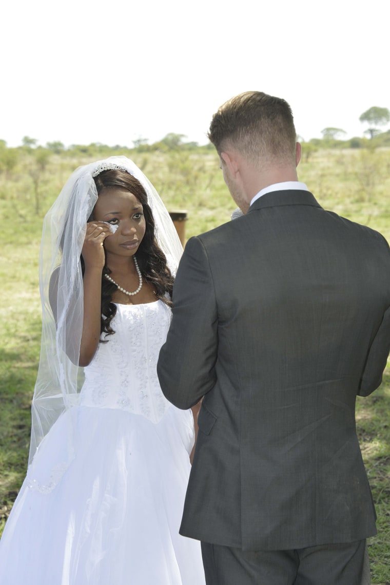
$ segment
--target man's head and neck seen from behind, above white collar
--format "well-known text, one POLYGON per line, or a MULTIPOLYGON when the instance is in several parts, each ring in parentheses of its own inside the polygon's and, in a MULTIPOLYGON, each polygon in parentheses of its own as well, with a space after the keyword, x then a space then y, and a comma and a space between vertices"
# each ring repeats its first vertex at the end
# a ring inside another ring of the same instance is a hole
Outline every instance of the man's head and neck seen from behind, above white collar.
POLYGON ((261 91, 236 95, 213 115, 208 136, 230 194, 244 212, 264 187, 298 180, 301 146, 284 99, 261 91))

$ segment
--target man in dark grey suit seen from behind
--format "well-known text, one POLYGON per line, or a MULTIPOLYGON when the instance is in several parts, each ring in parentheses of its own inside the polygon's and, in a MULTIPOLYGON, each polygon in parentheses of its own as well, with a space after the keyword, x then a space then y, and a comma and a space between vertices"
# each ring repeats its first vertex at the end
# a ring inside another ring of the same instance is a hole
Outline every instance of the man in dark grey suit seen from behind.
POLYGON ((230 99, 209 138, 244 215, 187 243, 158 362, 173 404, 204 397, 181 534, 209 585, 358 585, 376 530, 354 408, 389 353, 389 246, 298 182, 284 99, 230 99))

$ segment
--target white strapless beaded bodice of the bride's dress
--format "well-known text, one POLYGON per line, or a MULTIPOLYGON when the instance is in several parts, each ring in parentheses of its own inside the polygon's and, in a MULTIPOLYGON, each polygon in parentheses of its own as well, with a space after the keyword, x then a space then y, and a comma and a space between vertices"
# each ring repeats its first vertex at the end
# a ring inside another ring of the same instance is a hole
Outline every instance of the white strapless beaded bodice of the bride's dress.
POLYGON ((163 301, 117 305, 108 343, 99 343, 84 369, 81 405, 120 408, 152 422, 163 417, 170 403, 161 392, 157 359, 165 342, 171 311, 163 301))

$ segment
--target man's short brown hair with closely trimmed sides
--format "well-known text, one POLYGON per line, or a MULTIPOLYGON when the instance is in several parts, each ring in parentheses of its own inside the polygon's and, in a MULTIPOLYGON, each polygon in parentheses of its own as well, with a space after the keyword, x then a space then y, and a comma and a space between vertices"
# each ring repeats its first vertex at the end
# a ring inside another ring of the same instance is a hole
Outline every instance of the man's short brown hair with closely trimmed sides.
POLYGON ((218 154, 230 145, 246 159, 295 161, 296 132, 291 107, 282 98, 246 91, 220 106, 208 133, 218 154))

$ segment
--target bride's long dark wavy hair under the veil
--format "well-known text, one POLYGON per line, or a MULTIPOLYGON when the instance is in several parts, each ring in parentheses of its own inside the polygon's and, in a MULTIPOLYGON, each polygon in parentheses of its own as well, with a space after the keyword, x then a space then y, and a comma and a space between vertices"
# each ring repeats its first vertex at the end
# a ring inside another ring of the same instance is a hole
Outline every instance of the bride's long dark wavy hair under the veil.
MULTIPOLYGON (((146 230, 145 235, 137 250, 137 262, 143 278, 153 285, 156 291, 156 300, 160 299, 169 307, 172 306, 172 288, 174 278, 167 265, 165 254, 158 246, 154 234, 154 218, 147 202, 147 195, 141 183, 132 175, 123 170, 113 169, 102 171, 94 178, 96 189, 99 193, 107 187, 119 187, 129 191, 140 201, 143 207, 146 230)), ((88 221, 94 218, 92 211, 88 221)), ((84 274, 84 261, 81 257, 82 271, 84 274)), ((115 284, 112 284, 105 278, 105 274, 110 274, 111 270, 105 265, 102 273, 102 302, 101 302, 101 333, 105 336, 115 333, 111 328, 111 321, 116 314, 116 305, 111 302, 112 294, 117 290, 115 284)), ((101 340, 104 343, 104 340, 101 340)))

